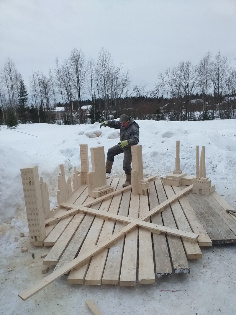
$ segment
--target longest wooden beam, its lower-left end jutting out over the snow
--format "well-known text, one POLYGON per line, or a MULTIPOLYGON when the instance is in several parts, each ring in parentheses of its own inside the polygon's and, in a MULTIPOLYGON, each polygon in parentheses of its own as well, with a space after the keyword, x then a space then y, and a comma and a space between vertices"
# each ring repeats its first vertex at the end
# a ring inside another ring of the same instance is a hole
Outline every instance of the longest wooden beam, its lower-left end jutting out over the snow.
MULTIPOLYGON (((127 186, 128 187, 128 186, 127 186)), ((126 188, 127 188, 126 187, 126 188)), ((154 209, 152 209, 151 211, 149 211, 146 215, 143 215, 141 218, 139 218, 138 220, 143 220, 145 221, 147 218, 149 218, 151 215, 153 215, 154 213, 156 213, 159 209, 164 208, 166 205, 170 204, 171 202, 177 200, 180 196, 183 196, 184 194, 188 193, 191 189, 193 188, 193 185, 188 186, 187 188, 185 188, 184 190, 182 190, 181 192, 179 192, 178 194, 176 194, 174 197, 175 198, 170 198, 168 199, 169 202, 167 203, 168 200, 166 200, 164 203, 161 203, 159 206, 155 207, 154 209), (165 204, 163 206, 163 204, 165 204), (151 213, 151 214, 150 214, 151 213)), ((107 195, 106 195, 107 196, 107 195)), ((95 199, 98 200, 99 198, 95 199)), ((137 220, 137 221, 138 221, 137 220)), ((40 290, 42 290, 43 288, 45 288, 48 284, 52 283, 53 281, 55 281, 56 279, 60 278, 61 276, 63 276, 65 273, 69 272, 71 269, 74 269, 75 267, 78 266, 83 266, 84 263, 87 261, 88 258, 92 257, 93 255, 97 254, 98 252, 100 252, 104 247, 107 247, 108 245, 110 245, 111 243, 114 243, 118 238, 120 238, 121 236, 123 236, 124 234, 126 234, 127 232, 131 231, 133 228, 135 228, 138 223, 137 221, 135 223, 129 223, 128 225, 126 225, 125 227, 123 227, 120 231, 112 234, 110 237, 108 237, 106 240, 102 241, 102 242, 98 242, 97 245, 95 245, 93 248, 87 250, 84 254, 78 256, 77 258, 73 259, 72 261, 68 262, 67 264, 65 264, 64 266, 62 266, 61 268, 57 269, 56 271, 54 271, 53 273, 51 273, 50 275, 48 275, 47 277, 43 278, 42 280, 38 281, 36 284, 34 284, 32 287, 25 289, 24 291, 22 291, 18 296, 23 300, 27 300, 28 298, 30 298, 32 295, 36 294, 37 292, 39 292, 40 290)))

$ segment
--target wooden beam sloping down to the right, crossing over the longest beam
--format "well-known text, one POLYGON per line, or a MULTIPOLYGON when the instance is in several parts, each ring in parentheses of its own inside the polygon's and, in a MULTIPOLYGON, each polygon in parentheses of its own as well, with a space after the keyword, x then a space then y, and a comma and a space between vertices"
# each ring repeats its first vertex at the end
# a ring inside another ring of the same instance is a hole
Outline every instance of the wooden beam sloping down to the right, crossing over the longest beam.
MULTIPOLYGON (((177 230, 177 229, 173 229, 171 227, 141 221, 140 219, 133 219, 133 218, 129 218, 129 217, 126 217, 123 215, 116 215, 116 214, 109 213, 109 212, 99 211, 97 209, 86 208, 86 207, 83 207, 80 205, 74 205, 74 204, 64 202, 64 203, 61 203, 61 206, 65 207, 65 208, 73 208, 73 210, 77 209, 77 211, 83 212, 83 213, 90 213, 93 215, 98 215, 102 219, 113 219, 113 220, 121 221, 123 223, 135 223, 137 221, 138 226, 142 226, 144 228, 147 228, 147 229, 151 230, 151 232, 158 233, 158 234, 160 232, 164 232, 164 233, 168 233, 171 235, 180 236, 180 237, 183 237, 185 241, 188 241, 191 243, 196 243, 197 238, 199 237, 199 234, 196 234, 196 233, 190 233, 190 232, 186 232, 186 231, 182 231, 182 230, 177 230)), ((160 209, 160 212, 161 211, 162 211, 162 209, 160 209)), ((159 213, 159 212, 157 211, 156 213, 159 213)))

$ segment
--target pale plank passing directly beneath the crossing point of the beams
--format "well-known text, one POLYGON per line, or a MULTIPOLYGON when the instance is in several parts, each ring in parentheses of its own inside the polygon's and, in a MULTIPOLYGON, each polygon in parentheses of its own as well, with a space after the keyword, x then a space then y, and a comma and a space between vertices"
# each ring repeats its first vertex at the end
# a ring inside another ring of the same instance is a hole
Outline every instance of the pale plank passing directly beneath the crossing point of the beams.
MULTIPOLYGON (((131 195, 129 217, 138 218, 139 195, 131 195)), ((121 264, 120 286, 135 286, 137 278, 138 229, 126 234, 121 264)))

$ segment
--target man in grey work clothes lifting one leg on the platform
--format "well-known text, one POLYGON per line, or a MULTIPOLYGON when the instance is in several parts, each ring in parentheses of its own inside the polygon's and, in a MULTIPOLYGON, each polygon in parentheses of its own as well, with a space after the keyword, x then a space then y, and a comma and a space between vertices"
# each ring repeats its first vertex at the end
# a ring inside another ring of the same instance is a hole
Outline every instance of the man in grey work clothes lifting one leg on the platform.
POLYGON ((138 144, 139 141, 139 126, 133 120, 131 116, 121 115, 120 121, 117 120, 108 120, 100 124, 100 128, 108 126, 110 128, 120 129, 120 138, 121 141, 116 145, 111 147, 107 152, 107 161, 106 161, 106 173, 110 174, 112 165, 114 162, 115 155, 124 152, 123 160, 123 170, 126 175, 126 182, 122 185, 126 187, 131 185, 131 146, 138 144))

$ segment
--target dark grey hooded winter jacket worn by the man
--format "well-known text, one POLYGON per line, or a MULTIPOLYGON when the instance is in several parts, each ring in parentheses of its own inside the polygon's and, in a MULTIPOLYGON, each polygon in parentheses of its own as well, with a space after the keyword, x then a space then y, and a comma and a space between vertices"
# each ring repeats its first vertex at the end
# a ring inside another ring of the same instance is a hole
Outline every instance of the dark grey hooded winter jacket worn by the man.
POLYGON ((108 120, 108 127, 120 129, 121 141, 128 140, 128 146, 134 146, 138 144, 139 141, 139 125, 129 116, 129 123, 126 128, 124 128, 119 120, 108 120))

